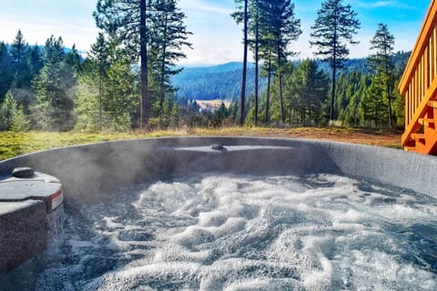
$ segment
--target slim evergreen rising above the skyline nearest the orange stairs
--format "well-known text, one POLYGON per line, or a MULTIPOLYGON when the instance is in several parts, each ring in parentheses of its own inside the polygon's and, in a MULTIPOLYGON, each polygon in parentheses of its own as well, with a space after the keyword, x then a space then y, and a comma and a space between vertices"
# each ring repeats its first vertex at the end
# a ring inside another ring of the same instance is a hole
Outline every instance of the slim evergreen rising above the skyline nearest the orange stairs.
POLYGON ((389 32, 387 25, 379 24, 375 35, 371 39, 371 49, 376 50, 374 55, 368 58, 369 65, 382 79, 385 87, 385 97, 388 105, 389 128, 392 128, 392 91, 394 88, 394 64, 393 64, 394 36, 389 32))

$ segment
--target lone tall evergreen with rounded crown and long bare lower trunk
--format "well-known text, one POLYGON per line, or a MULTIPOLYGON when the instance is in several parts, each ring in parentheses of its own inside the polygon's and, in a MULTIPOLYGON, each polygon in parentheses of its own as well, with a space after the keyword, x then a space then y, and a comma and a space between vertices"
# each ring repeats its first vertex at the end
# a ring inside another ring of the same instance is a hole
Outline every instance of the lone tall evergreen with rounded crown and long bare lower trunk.
POLYGON ((335 82, 337 70, 344 67, 344 61, 349 55, 347 44, 356 45, 353 40, 358 29, 361 28, 357 13, 351 5, 344 5, 343 0, 325 0, 317 13, 315 24, 311 26, 310 45, 316 46, 324 61, 330 64, 332 70, 330 120, 334 120, 335 82))

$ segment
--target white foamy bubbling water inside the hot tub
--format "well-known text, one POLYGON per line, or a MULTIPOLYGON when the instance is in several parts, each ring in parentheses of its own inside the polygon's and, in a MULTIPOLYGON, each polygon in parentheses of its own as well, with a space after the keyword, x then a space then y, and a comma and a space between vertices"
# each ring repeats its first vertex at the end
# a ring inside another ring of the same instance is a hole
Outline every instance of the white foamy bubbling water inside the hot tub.
POLYGON ((109 200, 67 207, 56 250, 2 286, 437 289, 437 201, 406 190, 342 176, 209 175, 109 200))

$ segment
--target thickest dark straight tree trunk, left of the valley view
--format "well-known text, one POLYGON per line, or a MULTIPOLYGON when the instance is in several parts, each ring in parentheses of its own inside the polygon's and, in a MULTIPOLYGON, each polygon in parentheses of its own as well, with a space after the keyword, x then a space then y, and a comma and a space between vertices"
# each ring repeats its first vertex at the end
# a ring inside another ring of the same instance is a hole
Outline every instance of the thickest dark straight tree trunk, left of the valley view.
POLYGON ((140 128, 145 128, 148 124, 150 115, 150 100, 148 96, 148 68, 147 68, 147 5, 146 0, 141 0, 140 5, 140 27, 139 41, 140 49, 139 56, 141 58, 141 110, 140 110, 140 128))

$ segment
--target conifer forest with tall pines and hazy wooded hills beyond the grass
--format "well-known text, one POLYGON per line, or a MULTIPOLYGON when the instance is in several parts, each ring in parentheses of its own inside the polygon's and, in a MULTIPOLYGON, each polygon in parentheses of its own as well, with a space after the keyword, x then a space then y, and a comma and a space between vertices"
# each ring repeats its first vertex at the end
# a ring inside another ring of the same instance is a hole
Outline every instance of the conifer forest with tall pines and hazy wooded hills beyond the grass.
POLYGON ((242 63, 228 71, 178 65, 192 35, 178 0, 97 0, 100 32, 86 54, 62 35, 32 45, 17 30, 0 40, 0 130, 403 126, 397 87, 410 53, 394 51, 390 27, 375 24, 369 55, 350 59, 360 15, 343 0, 320 1, 310 25, 316 53, 301 59, 290 50, 302 34, 295 5, 235 0, 242 63), (200 108, 208 96, 222 105, 200 108))

